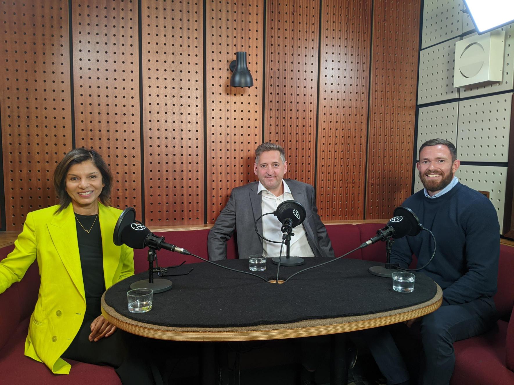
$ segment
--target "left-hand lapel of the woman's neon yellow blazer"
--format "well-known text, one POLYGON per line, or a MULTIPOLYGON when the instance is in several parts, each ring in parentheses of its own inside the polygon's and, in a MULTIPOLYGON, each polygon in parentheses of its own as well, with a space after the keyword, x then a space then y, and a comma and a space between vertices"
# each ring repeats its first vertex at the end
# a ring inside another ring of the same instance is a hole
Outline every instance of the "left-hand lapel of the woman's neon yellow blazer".
POLYGON ((73 205, 70 203, 61 213, 53 216, 52 221, 47 224, 47 227, 53 245, 56 247, 64 267, 66 267, 77 290, 85 299, 79 241, 77 240, 77 224, 75 222, 73 205))

